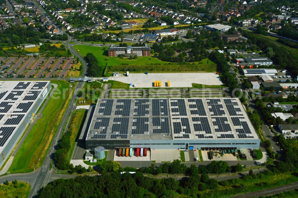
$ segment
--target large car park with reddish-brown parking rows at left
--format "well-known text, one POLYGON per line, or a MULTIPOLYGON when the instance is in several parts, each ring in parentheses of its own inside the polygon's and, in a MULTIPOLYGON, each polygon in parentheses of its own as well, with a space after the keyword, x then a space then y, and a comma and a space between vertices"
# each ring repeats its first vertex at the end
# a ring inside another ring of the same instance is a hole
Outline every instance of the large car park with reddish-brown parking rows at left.
POLYGON ((0 61, 1 78, 70 77, 80 74, 77 71, 79 65, 73 64, 72 58, 0 57, 0 61))

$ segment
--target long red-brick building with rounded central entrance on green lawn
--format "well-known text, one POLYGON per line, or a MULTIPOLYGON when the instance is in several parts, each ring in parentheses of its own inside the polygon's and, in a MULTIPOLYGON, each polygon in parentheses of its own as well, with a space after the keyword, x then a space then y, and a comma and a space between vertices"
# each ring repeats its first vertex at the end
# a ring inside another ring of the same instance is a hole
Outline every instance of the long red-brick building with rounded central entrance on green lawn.
POLYGON ((115 45, 111 45, 108 49, 108 56, 115 57, 122 54, 125 57, 128 56, 150 56, 150 46, 145 45, 145 47, 117 47, 115 45))

